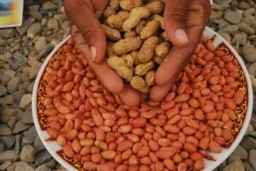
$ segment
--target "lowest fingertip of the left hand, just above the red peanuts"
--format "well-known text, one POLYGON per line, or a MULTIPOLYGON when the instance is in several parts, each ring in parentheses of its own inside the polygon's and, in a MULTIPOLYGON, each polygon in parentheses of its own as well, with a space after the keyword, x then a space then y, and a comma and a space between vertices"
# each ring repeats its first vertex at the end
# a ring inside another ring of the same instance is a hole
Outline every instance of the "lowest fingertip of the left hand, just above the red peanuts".
POLYGON ((125 105, 136 106, 140 104, 141 96, 140 93, 137 92, 134 88, 128 83, 125 83, 124 90, 119 94, 119 97, 125 103, 125 105))

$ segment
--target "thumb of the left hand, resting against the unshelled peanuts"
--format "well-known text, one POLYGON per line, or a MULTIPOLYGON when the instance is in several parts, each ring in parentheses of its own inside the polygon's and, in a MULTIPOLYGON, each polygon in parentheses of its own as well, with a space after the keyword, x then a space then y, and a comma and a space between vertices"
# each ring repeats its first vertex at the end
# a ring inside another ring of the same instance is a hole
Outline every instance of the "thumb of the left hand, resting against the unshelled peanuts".
MULTIPOLYGON (((94 0, 93 2, 105 4, 106 1, 94 0)), ((105 7, 95 9, 94 3, 88 0, 66 0, 64 7, 68 18, 75 26, 79 27, 85 42, 89 45, 90 58, 96 63, 100 63, 104 60, 107 43, 96 14, 99 15, 99 12, 102 12, 105 7)))

